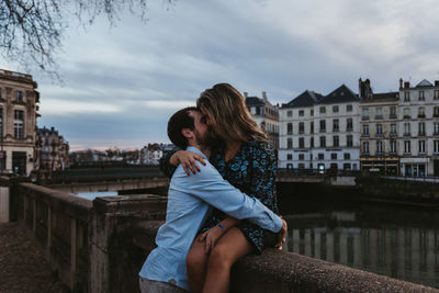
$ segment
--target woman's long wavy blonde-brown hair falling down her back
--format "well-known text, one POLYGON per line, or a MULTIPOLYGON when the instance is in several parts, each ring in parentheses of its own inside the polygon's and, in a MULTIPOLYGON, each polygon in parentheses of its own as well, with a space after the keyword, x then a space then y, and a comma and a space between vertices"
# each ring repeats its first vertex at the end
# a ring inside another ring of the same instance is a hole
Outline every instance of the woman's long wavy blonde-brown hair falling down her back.
POLYGON ((207 114, 215 133, 226 142, 268 142, 247 110, 244 97, 228 83, 217 83, 202 92, 196 106, 207 114))

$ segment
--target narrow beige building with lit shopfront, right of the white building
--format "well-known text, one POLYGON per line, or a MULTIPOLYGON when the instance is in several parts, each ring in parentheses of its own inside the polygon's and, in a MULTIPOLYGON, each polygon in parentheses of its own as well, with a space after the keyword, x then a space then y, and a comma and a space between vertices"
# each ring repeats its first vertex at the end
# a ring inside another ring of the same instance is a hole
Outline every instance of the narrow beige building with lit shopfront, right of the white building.
POLYGON ((359 80, 361 170, 398 174, 399 92, 373 93, 370 80, 359 80))

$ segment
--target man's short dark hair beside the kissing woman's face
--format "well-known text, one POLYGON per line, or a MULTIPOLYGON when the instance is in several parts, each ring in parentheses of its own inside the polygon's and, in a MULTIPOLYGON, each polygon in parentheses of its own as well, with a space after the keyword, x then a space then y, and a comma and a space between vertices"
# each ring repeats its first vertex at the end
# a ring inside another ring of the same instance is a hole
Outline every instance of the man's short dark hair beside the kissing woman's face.
POLYGON ((181 149, 185 149, 188 146, 188 138, 181 133, 182 128, 193 129, 195 125, 193 124, 193 117, 189 115, 189 111, 199 111, 194 106, 188 106, 181 109, 175 113, 168 122, 168 137, 171 139, 172 144, 181 149))

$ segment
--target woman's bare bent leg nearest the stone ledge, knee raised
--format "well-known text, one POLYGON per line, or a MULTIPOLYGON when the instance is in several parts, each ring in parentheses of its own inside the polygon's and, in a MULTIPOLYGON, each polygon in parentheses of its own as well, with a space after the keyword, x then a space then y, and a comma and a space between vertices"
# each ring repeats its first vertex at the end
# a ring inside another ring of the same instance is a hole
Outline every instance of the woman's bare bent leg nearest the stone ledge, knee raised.
POLYGON ((238 228, 230 228, 214 246, 207 261, 203 292, 227 293, 232 266, 252 251, 254 247, 238 228))

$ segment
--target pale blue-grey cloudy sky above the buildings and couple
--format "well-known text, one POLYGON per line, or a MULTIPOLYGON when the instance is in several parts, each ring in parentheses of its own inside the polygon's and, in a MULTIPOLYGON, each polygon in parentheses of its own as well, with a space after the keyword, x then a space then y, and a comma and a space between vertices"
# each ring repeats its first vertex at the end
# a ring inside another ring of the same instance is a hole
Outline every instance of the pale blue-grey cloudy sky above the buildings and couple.
MULTIPOLYGON (((375 92, 439 80, 439 7, 434 0, 150 0, 147 22, 115 27, 72 22, 57 55, 64 84, 38 82, 38 126, 55 126, 72 149, 138 148, 169 142, 166 125, 200 92, 229 82, 272 103, 341 83, 375 92)), ((0 68, 19 70, 0 59, 0 68)))

